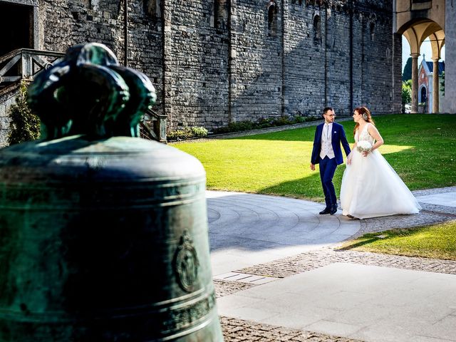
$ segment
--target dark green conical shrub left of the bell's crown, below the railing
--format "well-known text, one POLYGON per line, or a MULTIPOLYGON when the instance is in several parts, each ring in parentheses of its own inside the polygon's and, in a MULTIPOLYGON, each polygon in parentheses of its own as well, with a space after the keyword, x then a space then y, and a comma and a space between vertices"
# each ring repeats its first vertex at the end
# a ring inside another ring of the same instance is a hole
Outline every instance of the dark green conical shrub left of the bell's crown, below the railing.
POLYGON ((27 105, 27 86, 26 81, 21 82, 16 103, 9 107, 8 115, 11 118, 11 130, 8 134, 9 145, 36 140, 40 137, 40 119, 27 105))

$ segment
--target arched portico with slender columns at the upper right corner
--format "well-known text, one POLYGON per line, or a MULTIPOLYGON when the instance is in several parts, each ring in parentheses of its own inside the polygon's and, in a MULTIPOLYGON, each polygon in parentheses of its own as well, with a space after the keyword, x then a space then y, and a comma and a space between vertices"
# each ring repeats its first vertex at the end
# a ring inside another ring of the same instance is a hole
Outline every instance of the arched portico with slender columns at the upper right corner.
MULTIPOLYGON (((445 112, 456 113, 456 35, 445 35, 445 28, 456 26, 456 9, 449 0, 395 0, 395 33, 403 34, 410 44, 412 56, 412 113, 418 113, 418 56, 426 38, 432 46, 433 70, 438 70, 442 46, 446 43, 445 112), (447 4, 445 4, 445 1, 447 4), (447 5, 447 6, 446 6, 447 5), (450 45, 448 40, 450 39, 450 45)), ((432 77, 432 113, 439 113, 440 80, 432 77)))

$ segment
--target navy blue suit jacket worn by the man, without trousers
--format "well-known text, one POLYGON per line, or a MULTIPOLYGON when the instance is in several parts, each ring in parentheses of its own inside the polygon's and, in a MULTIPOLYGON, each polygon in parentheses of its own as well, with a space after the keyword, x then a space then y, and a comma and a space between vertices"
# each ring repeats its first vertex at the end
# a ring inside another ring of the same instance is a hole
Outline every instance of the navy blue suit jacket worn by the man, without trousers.
MULTIPOLYGON (((312 149, 311 163, 318 164, 320 162, 320 151, 321 151, 321 133, 323 132, 323 125, 316 126, 315 138, 314 138, 314 148, 312 149)), ((331 145, 333 146, 334 156, 336 157, 337 164, 343 163, 341 144, 345 154, 350 153, 350 145, 348 145, 347 138, 345 136, 345 131, 343 130, 343 125, 339 123, 333 123, 333 130, 331 133, 331 145)))

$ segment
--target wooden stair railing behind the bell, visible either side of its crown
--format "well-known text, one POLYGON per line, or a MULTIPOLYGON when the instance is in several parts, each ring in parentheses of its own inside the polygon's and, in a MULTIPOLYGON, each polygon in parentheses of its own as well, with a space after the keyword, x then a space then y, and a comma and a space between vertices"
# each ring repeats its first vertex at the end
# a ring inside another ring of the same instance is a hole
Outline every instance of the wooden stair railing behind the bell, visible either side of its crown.
MULTIPOLYGON (((37 73, 53 66, 63 56, 65 53, 62 52, 31 48, 19 48, 0 56, 0 90, 24 79, 32 80, 37 73)), ((141 138, 166 143, 166 118, 166 115, 147 110, 140 123, 141 138)))

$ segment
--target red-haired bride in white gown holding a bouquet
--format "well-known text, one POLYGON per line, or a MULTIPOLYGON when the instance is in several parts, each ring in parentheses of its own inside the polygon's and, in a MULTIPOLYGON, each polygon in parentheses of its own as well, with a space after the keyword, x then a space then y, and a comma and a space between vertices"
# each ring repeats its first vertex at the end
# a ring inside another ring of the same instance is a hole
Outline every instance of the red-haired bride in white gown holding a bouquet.
POLYGON ((347 157, 341 185, 342 214, 367 219, 394 214, 416 214, 421 207, 378 147, 383 138, 368 108, 356 108, 355 144, 347 157))

